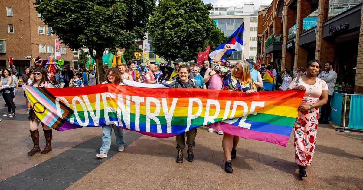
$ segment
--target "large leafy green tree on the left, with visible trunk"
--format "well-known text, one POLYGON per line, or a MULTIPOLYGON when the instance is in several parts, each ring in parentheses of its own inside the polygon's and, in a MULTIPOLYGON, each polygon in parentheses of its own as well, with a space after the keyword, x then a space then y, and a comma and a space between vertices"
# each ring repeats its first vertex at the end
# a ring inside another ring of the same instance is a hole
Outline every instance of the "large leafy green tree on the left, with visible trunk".
POLYGON ((63 44, 76 50, 89 48, 102 80, 103 52, 144 39, 155 0, 35 0, 34 5, 63 44))

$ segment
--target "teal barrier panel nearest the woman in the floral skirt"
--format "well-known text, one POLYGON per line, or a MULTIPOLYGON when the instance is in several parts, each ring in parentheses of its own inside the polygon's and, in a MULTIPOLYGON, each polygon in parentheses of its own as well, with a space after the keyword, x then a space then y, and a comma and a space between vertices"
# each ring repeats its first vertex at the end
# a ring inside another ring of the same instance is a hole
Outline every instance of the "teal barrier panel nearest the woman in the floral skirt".
POLYGON ((343 95, 342 93, 334 92, 333 97, 330 100, 330 117, 329 120, 342 125, 342 105, 343 105, 343 95))

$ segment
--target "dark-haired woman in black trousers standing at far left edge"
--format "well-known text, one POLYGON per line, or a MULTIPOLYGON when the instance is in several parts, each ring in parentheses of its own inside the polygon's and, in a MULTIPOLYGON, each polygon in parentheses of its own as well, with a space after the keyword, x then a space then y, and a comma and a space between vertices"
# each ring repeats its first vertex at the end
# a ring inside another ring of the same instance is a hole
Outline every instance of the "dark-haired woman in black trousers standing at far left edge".
POLYGON ((1 73, 0 87, 8 85, 8 88, 1 89, 3 98, 5 100, 5 105, 8 107, 8 112, 3 114, 3 116, 15 117, 15 103, 13 101, 14 89, 13 89, 13 78, 10 76, 13 71, 11 69, 4 69, 1 73), (12 112, 11 112, 12 110, 12 112))

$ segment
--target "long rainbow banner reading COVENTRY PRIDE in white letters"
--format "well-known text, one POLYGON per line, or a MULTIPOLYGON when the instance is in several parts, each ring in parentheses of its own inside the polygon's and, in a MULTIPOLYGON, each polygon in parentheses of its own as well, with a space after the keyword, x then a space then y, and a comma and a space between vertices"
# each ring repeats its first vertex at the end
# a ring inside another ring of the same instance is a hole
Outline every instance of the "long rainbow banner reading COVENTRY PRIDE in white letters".
POLYGON ((116 84, 63 89, 23 85, 23 89, 41 122, 58 131, 115 124, 166 138, 208 125, 282 146, 289 140, 304 94, 116 84))

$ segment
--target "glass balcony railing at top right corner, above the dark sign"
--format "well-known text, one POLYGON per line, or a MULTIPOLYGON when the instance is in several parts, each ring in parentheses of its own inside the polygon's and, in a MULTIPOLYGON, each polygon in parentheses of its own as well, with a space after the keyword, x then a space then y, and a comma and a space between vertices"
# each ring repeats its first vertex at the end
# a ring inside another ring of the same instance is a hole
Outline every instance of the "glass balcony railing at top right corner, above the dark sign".
POLYGON ((330 0, 328 5, 328 19, 353 8, 363 0, 330 0))

